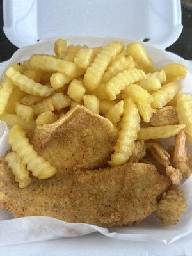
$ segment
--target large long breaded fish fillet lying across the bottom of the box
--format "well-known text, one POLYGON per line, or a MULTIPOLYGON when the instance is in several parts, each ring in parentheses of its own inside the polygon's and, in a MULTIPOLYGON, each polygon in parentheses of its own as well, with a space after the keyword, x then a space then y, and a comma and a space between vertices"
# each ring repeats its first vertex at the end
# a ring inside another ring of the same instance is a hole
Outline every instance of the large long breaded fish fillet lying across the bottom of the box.
POLYGON ((20 189, 4 159, 0 163, 0 209, 13 216, 44 215, 72 223, 121 227, 156 210, 170 184, 155 166, 127 163, 99 170, 57 173, 20 189))

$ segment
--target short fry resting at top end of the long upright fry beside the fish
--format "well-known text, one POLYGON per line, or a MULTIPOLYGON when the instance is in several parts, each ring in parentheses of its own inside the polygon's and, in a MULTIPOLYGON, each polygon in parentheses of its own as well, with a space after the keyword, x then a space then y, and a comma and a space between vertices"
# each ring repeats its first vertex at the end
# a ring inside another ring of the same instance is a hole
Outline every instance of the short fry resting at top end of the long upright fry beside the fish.
POLYGON ((128 95, 134 102, 141 104, 150 104, 153 101, 152 95, 138 84, 130 84, 122 90, 123 95, 128 95))

